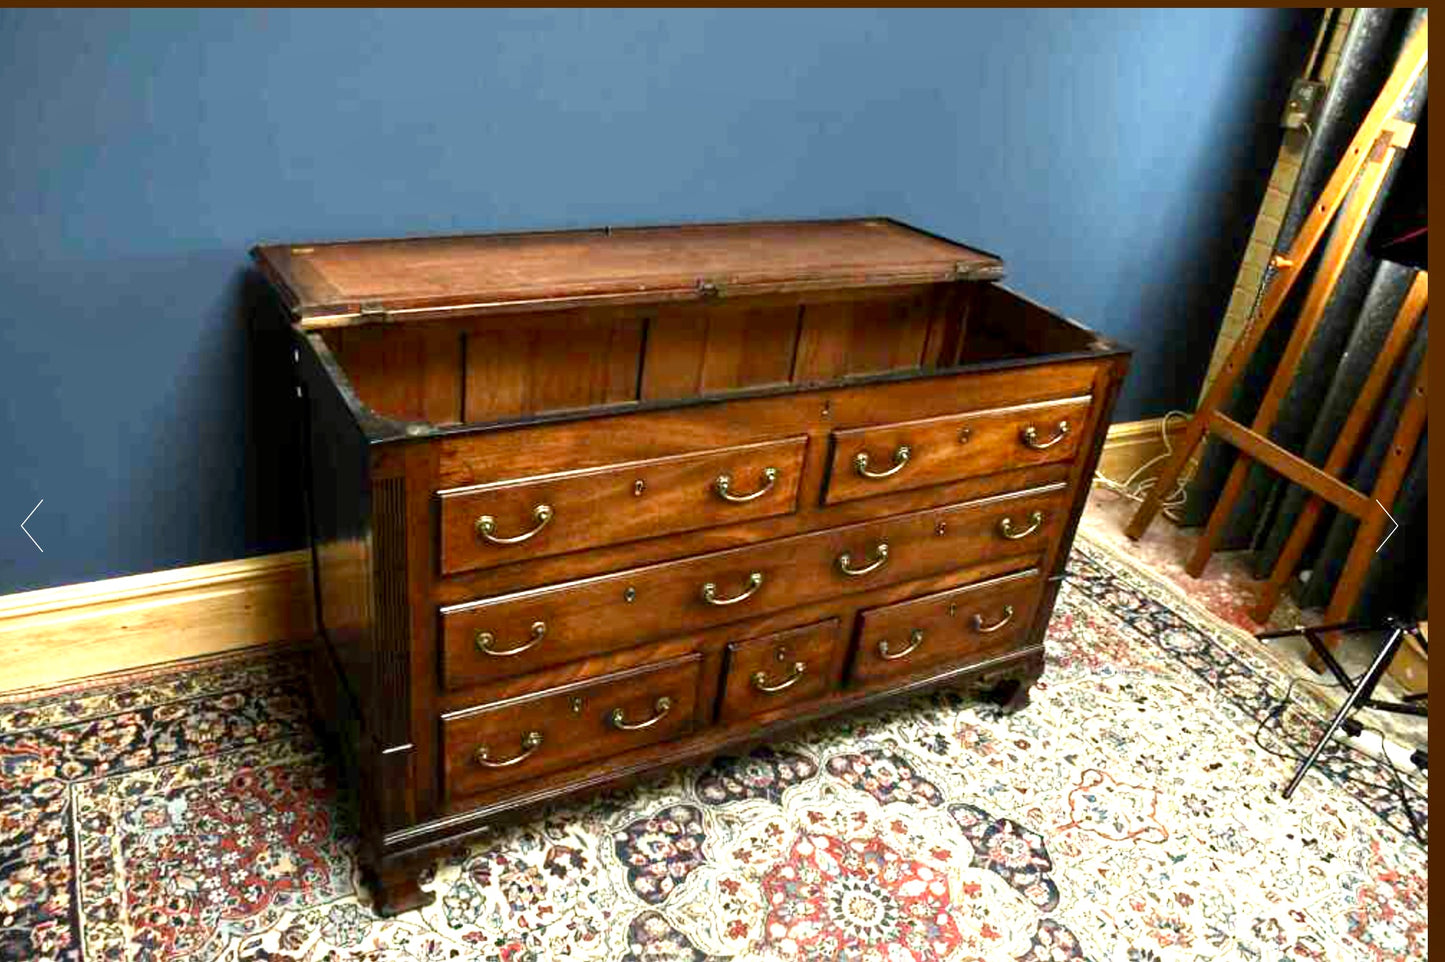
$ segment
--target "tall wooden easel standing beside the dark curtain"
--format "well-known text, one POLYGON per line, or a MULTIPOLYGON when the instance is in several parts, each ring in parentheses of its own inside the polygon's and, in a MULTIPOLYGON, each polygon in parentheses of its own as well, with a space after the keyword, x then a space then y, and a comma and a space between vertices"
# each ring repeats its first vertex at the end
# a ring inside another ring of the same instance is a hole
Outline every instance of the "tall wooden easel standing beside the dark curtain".
POLYGON ((1237 448, 1240 456, 1235 459, 1220 500, 1209 514, 1204 534, 1199 537, 1195 552, 1185 566, 1191 575, 1198 576, 1202 573, 1205 565, 1209 562, 1214 545, 1244 488, 1251 464, 1263 464, 1306 488, 1311 497, 1279 560, 1274 563, 1273 572, 1270 572, 1269 582, 1261 591, 1259 602, 1251 611, 1256 621, 1267 618, 1279 601, 1285 582, 1289 579, 1305 546, 1309 543, 1325 501, 1360 520, 1360 530, 1350 547, 1344 572, 1329 598, 1325 621, 1344 621, 1348 617, 1350 610, 1360 597, 1366 572, 1370 568, 1370 559, 1389 529, 1389 519, 1381 506, 1390 504, 1399 493, 1406 468, 1415 454, 1415 446, 1425 429, 1428 365, 1420 367, 1415 390, 1409 402, 1406 402, 1405 412, 1400 416, 1399 426, 1390 443, 1390 451, 1370 494, 1357 491, 1340 480, 1340 472, 1347 467, 1366 425, 1371 420, 1380 396, 1389 384, 1390 373, 1400 354, 1409 345, 1410 335, 1425 312, 1428 277, 1422 272, 1406 295, 1405 303, 1386 338, 1386 344, 1370 368, 1366 384, 1360 391, 1360 399, 1345 420, 1345 426, 1341 429, 1325 467, 1316 468, 1269 439, 1269 432, 1274 426, 1285 393, 1299 368, 1305 348, 1314 337, 1315 326, 1324 315, 1335 283, 1340 280, 1350 250, 1354 247, 1364 227, 1370 207, 1380 192, 1380 185, 1384 182, 1384 175, 1394 159, 1394 152, 1405 149, 1415 133, 1413 124, 1396 121, 1392 118, 1392 114, 1429 61, 1428 26, 1428 22, 1420 23, 1419 29, 1406 43, 1384 88, 1360 124, 1360 130, 1355 131, 1354 140, 1345 149, 1340 166, 1335 168, 1329 182, 1325 183, 1325 189, 1311 209, 1309 217, 1305 218, 1305 224, 1300 227, 1295 243, 1283 257, 1274 259, 1272 266, 1279 273, 1273 276, 1269 285, 1260 305, 1259 319, 1246 329, 1244 337, 1230 351, 1208 394, 1205 394, 1194 417, 1189 419, 1183 439, 1165 465, 1159 481, 1150 488, 1143 504, 1139 506, 1133 520, 1130 520, 1129 527, 1124 529, 1126 534, 1136 540, 1149 529, 1150 521, 1159 513, 1165 494, 1175 488, 1179 474, 1189 462, 1189 458, 1207 432, 1237 448), (1230 391, 1248 365, 1250 355, 1259 347, 1264 332, 1279 315, 1280 306, 1289 296, 1311 254, 1314 254, 1331 220, 1340 211, 1341 205, 1344 205, 1355 178, 1360 178, 1360 183, 1350 196, 1348 205, 1345 205, 1340 230, 1335 231, 1335 235, 1322 254, 1319 270, 1305 298, 1299 321, 1290 334, 1279 367, 1270 378, 1264 400, 1260 403, 1260 409, 1250 426, 1246 428, 1225 416, 1220 409, 1228 400, 1230 391))

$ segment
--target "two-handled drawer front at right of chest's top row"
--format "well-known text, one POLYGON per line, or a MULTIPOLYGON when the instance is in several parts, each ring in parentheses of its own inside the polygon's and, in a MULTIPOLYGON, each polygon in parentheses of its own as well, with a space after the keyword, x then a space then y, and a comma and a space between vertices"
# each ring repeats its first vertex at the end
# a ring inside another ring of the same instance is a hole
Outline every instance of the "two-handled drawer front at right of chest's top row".
POLYGON ((832 432, 825 504, 1068 461, 1088 397, 832 432))

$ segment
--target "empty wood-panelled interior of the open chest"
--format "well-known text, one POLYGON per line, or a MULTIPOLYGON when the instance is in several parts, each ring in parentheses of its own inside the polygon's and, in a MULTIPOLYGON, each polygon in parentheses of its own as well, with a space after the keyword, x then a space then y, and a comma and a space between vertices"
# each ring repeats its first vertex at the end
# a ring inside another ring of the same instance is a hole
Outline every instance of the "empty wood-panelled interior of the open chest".
POLYGON ((435 425, 815 386, 1020 357, 1035 342, 1082 350, 1092 337, 972 283, 484 313, 321 334, 376 413, 435 425))

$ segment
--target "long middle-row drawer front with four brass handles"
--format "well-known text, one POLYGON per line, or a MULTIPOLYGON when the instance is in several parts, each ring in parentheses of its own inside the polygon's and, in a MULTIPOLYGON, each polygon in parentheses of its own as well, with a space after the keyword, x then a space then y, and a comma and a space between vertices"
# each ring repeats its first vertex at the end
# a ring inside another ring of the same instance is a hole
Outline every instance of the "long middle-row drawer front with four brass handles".
POLYGON ((1065 487, 848 524, 442 608, 455 689, 972 562, 1043 552, 1065 487))

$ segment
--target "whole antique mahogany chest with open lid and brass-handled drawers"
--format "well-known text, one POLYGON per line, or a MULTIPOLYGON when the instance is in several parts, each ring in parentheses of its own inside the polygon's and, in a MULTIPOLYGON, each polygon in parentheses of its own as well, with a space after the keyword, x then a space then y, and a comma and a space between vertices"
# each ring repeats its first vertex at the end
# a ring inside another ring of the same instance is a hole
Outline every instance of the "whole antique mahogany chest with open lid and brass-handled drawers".
POLYGON ((539 805, 1027 702, 1127 351, 892 220, 263 246, 377 909, 539 805))

